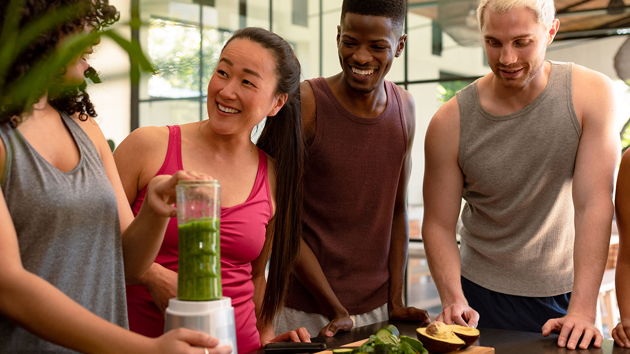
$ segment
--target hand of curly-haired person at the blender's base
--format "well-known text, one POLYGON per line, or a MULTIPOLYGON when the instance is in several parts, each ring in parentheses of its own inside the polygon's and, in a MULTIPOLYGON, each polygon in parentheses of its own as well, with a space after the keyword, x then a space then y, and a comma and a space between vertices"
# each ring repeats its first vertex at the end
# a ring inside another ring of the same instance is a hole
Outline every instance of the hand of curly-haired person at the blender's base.
POLYGON ((147 353, 230 354, 229 346, 220 346, 219 340, 192 329, 178 328, 152 339, 154 348, 147 353))

